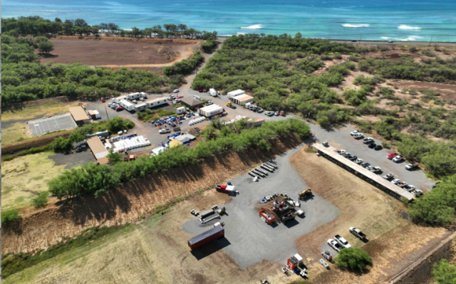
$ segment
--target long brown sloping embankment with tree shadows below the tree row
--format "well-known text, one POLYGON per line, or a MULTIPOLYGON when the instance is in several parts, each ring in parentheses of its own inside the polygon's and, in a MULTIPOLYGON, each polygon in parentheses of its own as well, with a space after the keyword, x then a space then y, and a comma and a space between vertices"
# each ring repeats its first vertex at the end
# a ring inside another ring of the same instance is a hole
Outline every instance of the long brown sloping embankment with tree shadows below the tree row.
POLYGON ((24 216, 19 222, 3 226, 1 252, 34 252, 61 241, 63 236, 74 236, 84 228, 138 221, 141 215, 150 214, 155 206, 237 176, 300 142, 294 135, 289 135, 278 140, 271 152, 251 149, 242 154, 224 153, 196 165, 134 179, 99 199, 89 195, 74 199, 72 203, 53 204, 31 216, 24 216))

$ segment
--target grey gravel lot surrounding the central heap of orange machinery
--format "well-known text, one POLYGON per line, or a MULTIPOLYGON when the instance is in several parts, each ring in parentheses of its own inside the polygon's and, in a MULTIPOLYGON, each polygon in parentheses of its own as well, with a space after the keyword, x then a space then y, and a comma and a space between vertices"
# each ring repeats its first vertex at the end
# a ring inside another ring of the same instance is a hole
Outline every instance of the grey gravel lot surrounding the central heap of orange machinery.
MULTIPOLYGON (((233 196, 229 204, 225 204, 229 215, 222 216, 221 220, 212 221, 212 223, 217 221, 225 223, 225 239, 217 243, 234 258, 241 269, 264 259, 285 264, 286 260, 296 253, 296 238, 314 231, 341 214, 335 206, 316 194, 306 201, 301 201, 301 209, 306 212, 304 218, 296 217, 295 221, 288 221, 285 224, 275 223, 273 226, 268 226, 261 221, 258 212, 254 210, 254 206, 264 196, 283 192, 297 200, 298 193, 308 188, 289 162, 289 157, 301 146, 275 159, 279 169, 269 174, 269 177, 260 179, 259 182, 252 182, 251 177, 246 174, 231 181, 239 194, 233 196)), ((210 208, 195 208, 200 212, 208 209, 210 208)), ((196 236, 207 231, 210 224, 202 226, 195 217, 184 223, 182 228, 185 232, 196 236)))

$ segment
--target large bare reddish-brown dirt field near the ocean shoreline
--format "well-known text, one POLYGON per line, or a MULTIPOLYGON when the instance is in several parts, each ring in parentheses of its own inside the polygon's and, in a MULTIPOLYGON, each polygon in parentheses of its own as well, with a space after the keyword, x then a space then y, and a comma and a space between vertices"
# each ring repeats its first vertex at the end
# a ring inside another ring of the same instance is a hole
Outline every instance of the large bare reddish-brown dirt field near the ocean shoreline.
MULTIPOLYGON (((55 49, 41 63, 86 65, 167 65, 192 55, 200 41, 155 38, 51 38, 55 49), (169 59, 168 59, 169 58, 169 59)), ((38 52, 38 51, 37 51, 38 52)))

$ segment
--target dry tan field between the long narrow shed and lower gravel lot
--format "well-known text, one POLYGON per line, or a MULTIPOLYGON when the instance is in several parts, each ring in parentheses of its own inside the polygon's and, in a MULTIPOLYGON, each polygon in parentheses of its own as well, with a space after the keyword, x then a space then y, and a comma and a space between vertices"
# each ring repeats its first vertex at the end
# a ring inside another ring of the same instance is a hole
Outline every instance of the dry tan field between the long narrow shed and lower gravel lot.
POLYGON ((445 228, 423 228, 402 219, 399 212, 405 211, 405 205, 306 147, 290 160, 312 190, 342 212, 334 221, 296 240, 298 252, 315 263, 311 265, 311 283, 383 283, 398 273, 413 253, 430 249, 434 241, 450 233, 445 228), (348 233, 350 226, 361 228, 368 243, 348 233), (370 273, 356 275, 335 265, 322 273, 325 270, 317 262, 321 243, 336 233, 352 246, 368 251, 373 257, 370 273))

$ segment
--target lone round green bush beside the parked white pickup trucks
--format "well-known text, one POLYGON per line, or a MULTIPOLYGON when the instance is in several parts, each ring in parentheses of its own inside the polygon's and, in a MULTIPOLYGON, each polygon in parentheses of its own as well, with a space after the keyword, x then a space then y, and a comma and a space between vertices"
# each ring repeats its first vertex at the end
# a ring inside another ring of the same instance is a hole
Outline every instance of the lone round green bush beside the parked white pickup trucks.
POLYGON ((336 264, 350 271, 363 272, 372 265, 372 258, 361 248, 343 248, 336 257, 336 264))

